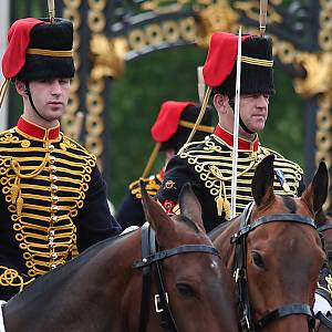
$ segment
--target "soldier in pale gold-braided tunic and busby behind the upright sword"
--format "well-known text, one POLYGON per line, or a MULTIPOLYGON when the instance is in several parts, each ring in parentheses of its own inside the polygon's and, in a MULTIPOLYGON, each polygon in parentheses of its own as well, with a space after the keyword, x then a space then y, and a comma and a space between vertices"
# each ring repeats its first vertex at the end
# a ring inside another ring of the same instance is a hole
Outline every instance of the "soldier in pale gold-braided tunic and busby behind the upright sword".
MULTIPOLYGON (((168 214, 177 214, 180 189, 185 183, 190 183, 203 206, 207 231, 230 218, 237 42, 238 37, 231 33, 212 35, 204 77, 205 83, 212 87, 219 123, 204 143, 198 146, 197 142, 189 143, 170 159, 157 193, 157 199, 168 214)), ((272 64, 269 38, 242 37, 237 214, 252 200, 255 169, 269 154, 276 156, 277 194, 295 197, 304 187, 301 167, 259 142, 258 132, 264 127, 269 97, 274 92, 272 64)))

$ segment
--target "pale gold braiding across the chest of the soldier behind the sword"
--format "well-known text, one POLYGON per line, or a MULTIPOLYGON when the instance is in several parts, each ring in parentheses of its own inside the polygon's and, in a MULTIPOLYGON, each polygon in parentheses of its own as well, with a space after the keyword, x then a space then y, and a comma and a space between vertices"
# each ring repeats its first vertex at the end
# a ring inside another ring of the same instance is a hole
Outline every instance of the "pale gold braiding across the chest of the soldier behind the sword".
MULTIPOLYGON (((195 143, 198 145, 200 143, 195 143)), ((186 146, 179 157, 186 159, 189 165, 193 165, 195 172, 199 175, 200 180, 208 189, 209 194, 215 198, 216 208, 219 216, 225 214, 229 216, 229 201, 231 193, 231 153, 232 149, 217 136, 210 135, 198 148, 190 149, 186 146)), ((281 168, 283 175, 291 189, 284 193, 281 184, 274 180, 274 193, 279 195, 297 196, 299 181, 302 177, 302 168, 283 156, 262 146, 258 152, 239 151, 238 158, 238 188, 237 188, 237 212, 242 211, 243 207, 252 200, 251 180, 257 165, 266 156, 274 154, 274 167, 281 168)))

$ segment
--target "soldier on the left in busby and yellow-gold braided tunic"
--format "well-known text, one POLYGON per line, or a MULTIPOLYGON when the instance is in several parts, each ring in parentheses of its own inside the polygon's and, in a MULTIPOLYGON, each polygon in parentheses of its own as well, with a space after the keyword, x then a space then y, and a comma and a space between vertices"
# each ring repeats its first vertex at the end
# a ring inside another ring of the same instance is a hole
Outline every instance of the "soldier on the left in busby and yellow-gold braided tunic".
POLYGON ((73 25, 21 19, 8 33, 7 82, 23 100, 15 127, 0 134, 0 299, 121 227, 110 214, 96 158, 60 131, 69 100, 73 25))

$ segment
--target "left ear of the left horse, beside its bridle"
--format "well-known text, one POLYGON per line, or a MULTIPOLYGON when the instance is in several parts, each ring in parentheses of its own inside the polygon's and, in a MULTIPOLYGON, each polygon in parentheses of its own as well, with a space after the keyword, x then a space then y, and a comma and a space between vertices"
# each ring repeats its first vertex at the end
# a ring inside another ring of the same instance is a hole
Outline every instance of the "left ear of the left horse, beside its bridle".
POLYGON ((163 231, 164 229, 166 230, 167 228, 172 228, 173 222, 170 218, 164 211, 162 206, 152 199, 146 193, 145 184, 142 179, 139 180, 139 186, 145 218, 151 224, 153 229, 158 232, 158 230, 163 231))

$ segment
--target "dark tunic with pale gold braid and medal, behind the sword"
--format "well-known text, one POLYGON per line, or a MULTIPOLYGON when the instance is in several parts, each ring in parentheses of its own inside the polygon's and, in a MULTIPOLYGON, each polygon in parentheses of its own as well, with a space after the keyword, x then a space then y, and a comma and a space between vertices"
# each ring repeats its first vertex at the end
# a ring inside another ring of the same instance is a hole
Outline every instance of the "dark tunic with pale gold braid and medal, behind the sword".
MULTIPOLYGON (((239 138, 237 214, 252 200, 251 180, 256 167, 270 154, 276 156, 274 193, 295 197, 303 189, 303 170, 298 164, 261 146, 258 136, 253 142, 239 138)), ((232 135, 217 126, 215 134, 203 142, 190 143, 170 159, 157 199, 168 214, 177 214, 180 189, 190 183, 203 206, 203 220, 209 231, 230 217, 231 173, 232 135)))

